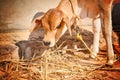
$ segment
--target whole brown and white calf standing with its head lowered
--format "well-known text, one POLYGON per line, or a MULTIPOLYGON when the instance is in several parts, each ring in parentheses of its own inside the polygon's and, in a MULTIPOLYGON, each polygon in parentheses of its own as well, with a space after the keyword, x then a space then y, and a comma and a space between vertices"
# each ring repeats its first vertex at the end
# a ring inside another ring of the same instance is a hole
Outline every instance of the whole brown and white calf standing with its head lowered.
POLYGON ((113 0, 61 0, 56 8, 50 9, 41 19, 36 20, 36 26, 34 26, 32 31, 43 27, 45 29, 43 41, 52 47, 65 33, 65 27, 71 34, 70 26, 77 23, 77 18, 92 18, 94 39, 91 57, 94 58, 99 52, 99 35, 100 27, 102 27, 107 42, 107 63, 112 65, 114 59, 111 39, 112 2, 113 0))

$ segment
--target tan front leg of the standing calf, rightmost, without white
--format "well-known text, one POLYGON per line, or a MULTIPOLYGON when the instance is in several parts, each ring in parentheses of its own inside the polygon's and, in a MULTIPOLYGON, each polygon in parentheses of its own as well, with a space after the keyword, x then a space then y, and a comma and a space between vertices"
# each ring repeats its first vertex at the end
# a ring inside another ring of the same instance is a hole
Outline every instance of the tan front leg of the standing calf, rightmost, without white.
POLYGON ((107 64, 112 65, 114 60, 114 52, 112 46, 112 21, 111 21, 111 9, 104 11, 104 19, 102 30, 105 36, 106 45, 107 45, 107 64))

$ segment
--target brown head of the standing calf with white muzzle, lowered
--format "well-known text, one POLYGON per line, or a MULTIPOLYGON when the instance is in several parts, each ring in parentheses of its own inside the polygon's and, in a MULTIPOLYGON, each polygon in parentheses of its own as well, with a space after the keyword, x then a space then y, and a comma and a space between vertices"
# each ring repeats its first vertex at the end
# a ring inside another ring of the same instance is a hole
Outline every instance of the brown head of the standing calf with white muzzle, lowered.
POLYGON ((50 9, 41 19, 36 19, 32 31, 44 28, 44 44, 53 47, 67 28, 71 34, 69 22, 69 18, 61 10, 50 9))

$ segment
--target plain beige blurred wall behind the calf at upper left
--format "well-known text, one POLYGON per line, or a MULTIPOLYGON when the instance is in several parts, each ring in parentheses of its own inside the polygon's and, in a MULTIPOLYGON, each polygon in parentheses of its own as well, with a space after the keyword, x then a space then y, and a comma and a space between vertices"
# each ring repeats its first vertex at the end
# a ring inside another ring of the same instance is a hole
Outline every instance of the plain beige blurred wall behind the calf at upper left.
POLYGON ((0 0, 0 30, 28 29, 35 13, 56 7, 60 0, 0 0))

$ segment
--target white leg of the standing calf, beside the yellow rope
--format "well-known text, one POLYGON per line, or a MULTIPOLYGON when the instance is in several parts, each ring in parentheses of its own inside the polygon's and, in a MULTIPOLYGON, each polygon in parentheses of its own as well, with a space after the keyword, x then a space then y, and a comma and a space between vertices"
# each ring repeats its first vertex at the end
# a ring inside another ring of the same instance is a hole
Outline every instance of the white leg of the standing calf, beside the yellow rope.
POLYGON ((97 53, 99 52, 99 39, 100 39, 100 18, 96 18, 93 20, 93 32, 94 32, 94 38, 93 38, 93 45, 92 53, 90 54, 91 58, 95 58, 97 56, 97 53))

